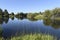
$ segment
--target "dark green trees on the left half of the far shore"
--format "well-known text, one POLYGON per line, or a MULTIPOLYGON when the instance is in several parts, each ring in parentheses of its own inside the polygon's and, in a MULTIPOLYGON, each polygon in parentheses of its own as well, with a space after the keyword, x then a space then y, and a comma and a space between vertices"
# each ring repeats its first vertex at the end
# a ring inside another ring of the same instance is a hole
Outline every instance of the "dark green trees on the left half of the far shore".
POLYGON ((20 13, 14 14, 14 12, 9 13, 7 9, 3 11, 0 8, 0 18, 5 18, 5 17, 11 18, 12 20, 14 19, 14 17, 18 19, 23 19, 23 18, 27 18, 27 13, 20 12, 20 13))

